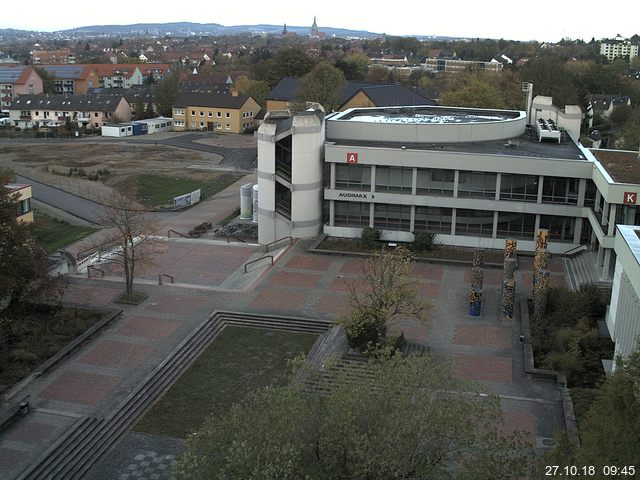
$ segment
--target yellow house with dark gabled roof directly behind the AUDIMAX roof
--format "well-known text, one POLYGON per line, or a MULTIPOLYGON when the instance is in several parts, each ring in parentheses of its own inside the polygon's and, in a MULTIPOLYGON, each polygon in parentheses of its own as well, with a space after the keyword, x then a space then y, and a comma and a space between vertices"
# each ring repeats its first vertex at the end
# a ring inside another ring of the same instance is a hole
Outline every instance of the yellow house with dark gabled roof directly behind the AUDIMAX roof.
MULTIPOLYGON (((285 77, 269 92, 265 110, 287 110, 296 100, 300 79, 285 77)), ((356 82, 349 80, 341 93, 338 111, 354 107, 392 107, 409 105, 435 105, 436 103, 416 91, 399 84, 356 82)))

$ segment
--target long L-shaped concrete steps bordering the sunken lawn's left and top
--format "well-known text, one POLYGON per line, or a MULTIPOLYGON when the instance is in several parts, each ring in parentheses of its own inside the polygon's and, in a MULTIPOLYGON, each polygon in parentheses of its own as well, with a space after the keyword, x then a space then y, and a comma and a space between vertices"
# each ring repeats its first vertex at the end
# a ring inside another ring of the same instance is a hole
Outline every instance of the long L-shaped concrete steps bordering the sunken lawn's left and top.
POLYGON ((122 435, 173 385, 226 326, 324 333, 329 322, 285 316, 215 312, 201 323, 104 419, 83 417, 17 480, 81 480, 122 435))

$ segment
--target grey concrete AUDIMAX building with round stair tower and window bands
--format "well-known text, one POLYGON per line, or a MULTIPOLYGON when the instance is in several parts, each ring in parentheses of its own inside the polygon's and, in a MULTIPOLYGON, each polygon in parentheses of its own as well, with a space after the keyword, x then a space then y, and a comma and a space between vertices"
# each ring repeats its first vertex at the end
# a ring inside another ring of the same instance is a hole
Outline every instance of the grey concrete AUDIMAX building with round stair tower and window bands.
POLYGON ((446 245, 501 249, 516 238, 533 252, 546 228, 552 253, 584 246, 610 282, 615 226, 640 224, 637 152, 586 149, 553 120, 545 130, 525 112, 433 106, 351 109, 313 128, 307 117, 320 115, 298 117, 268 116, 258 131, 260 242, 320 230, 355 238, 371 226, 386 241, 426 230, 446 245), (321 229, 317 201, 297 195, 319 185, 321 229))

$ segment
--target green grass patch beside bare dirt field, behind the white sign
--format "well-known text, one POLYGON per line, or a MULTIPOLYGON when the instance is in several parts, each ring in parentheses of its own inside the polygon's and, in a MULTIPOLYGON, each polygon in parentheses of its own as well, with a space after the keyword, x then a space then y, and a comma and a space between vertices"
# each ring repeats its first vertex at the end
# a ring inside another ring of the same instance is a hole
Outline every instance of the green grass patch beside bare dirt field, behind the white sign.
POLYGON ((126 180, 138 188, 140 202, 147 207, 173 205, 173 198, 202 189, 202 198, 207 198, 225 189, 240 178, 232 173, 203 173, 201 179, 143 173, 126 180))

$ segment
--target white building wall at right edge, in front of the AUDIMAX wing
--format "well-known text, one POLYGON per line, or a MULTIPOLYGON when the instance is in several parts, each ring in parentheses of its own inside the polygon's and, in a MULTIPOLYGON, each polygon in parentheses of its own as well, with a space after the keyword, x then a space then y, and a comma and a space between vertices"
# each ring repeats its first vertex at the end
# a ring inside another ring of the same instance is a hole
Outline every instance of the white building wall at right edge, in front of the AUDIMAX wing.
POLYGON ((616 345, 615 357, 625 358, 636 349, 640 337, 640 227, 618 225, 617 230, 607 328, 616 345))

